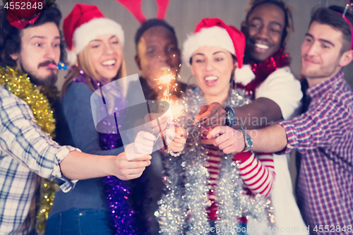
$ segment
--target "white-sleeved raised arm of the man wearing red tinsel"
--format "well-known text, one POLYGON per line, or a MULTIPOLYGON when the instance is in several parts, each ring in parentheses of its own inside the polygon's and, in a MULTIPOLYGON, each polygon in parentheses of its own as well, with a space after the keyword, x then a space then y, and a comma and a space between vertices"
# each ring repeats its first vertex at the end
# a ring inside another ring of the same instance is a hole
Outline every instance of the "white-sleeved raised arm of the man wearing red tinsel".
MULTIPOLYGON (((302 97, 299 80, 294 78, 289 68, 281 68, 268 76, 256 89, 255 100, 243 107, 234 107, 236 119, 249 129, 266 126, 270 121, 289 119, 296 113, 302 97)), ((219 103, 202 107, 196 121, 217 118, 215 126, 225 125, 225 109, 219 103)))

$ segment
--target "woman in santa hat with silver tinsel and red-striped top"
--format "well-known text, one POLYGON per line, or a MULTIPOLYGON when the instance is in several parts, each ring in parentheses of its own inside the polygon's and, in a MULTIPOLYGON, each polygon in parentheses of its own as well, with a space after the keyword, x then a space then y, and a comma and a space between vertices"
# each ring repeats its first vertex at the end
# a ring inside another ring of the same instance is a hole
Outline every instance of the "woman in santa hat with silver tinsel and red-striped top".
POLYGON ((184 152, 168 150, 174 157, 164 161, 168 190, 156 213, 162 233, 178 234, 182 229, 191 234, 217 234, 226 228, 226 234, 244 234, 246 217, 268 219, 265 198, 275 181, 273 155, 226 155, 203 139, 208 133, 205 128, 187 125, 202 105, 219 102, 241 107, 251 102, 245 90, 233 87, 234 71, 243 64, 244 49, 243 33, 218 18, 201 20, 184 42, 183 58, 198 87, 189 88, 181 99, 187 113, 184 127, 189 133, 184 152))

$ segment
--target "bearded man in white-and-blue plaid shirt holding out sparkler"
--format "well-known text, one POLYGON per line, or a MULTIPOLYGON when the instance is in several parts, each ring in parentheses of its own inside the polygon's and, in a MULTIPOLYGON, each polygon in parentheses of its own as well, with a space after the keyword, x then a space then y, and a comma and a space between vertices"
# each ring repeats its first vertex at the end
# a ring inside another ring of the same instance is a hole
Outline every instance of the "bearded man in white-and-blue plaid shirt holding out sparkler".
MULTIPOLYGON (((0 66, 28 73, 37 88, 54 85, 56 69, 48 65, 58 64, 64 49, 60 20, 61 13, 54 5, 19 30, 8 23, 5 9, 0 8, 0 66)), ((152 152, 155 137, 148 134, 139 135, 131 144, 131 154, 152 152)), ((97 156, 60 146, 35 124, 30 107, 0 85, 0 235, 36 234, 35 191, 40 176, 61 179, 61 190, 67 192, 80 179, 109 175, 136 179, 150 158, 144 155, 128 161, 125 152, 97 156)))

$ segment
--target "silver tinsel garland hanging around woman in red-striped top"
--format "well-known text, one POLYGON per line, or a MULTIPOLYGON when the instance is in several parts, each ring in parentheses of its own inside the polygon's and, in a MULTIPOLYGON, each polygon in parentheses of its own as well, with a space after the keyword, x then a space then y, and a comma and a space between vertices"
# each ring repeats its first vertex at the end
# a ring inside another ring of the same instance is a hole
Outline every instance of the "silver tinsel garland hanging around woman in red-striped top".
MULTIPOLYGON (((184 104, 187 118, 194 119, 205 105, 203 93, 199 88, 189 88, 181 103, 184 104)), ((244 90, 229 90, 226 105, 240 107, 251 102, 244 90)), ((187 123, 186 121, 184 123, 187 123)), ((190 124, 190 123, 189 123, 190 124)), ((160 222, 160 232, 167 234, 208 234, 207 208, 209 173, 206 168, 208 150, 200 143, 200 138, 190 134, 197 131, 195 126, 186 126, 189 137, 184 154, 174 158, 164 157, 166 176, 165 194, 160 200, 156 216, 160 222), (173 159, 174 158, 174 159, 173 159)), ((237 163, 232 155, 223 155, 217 183, 216 227, 232 227, 225 234, 237 234, 238 217, 251 216, 262 221, 268 219, 269 200, 261 195, 246 195, 244 183, 239 177, 237 163)), ((220 234, 223 234, 222 232, 220 234)))

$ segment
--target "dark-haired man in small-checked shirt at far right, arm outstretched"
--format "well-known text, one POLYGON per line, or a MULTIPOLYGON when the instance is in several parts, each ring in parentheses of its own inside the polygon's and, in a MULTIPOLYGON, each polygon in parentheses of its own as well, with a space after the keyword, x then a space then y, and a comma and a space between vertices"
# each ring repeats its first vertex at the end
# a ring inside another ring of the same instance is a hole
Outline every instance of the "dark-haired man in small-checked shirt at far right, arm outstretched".
POLYGON ((307 112, 260 130, 219 126, 208 135, 222 134, 213 143, 225 153, 299 151, 297 200, 311 234, 352 234, 353 93, 342 68, 353 60, 353 18, 342 12, 338 6, 318 8, 311 17, 301 46, 307 112))

